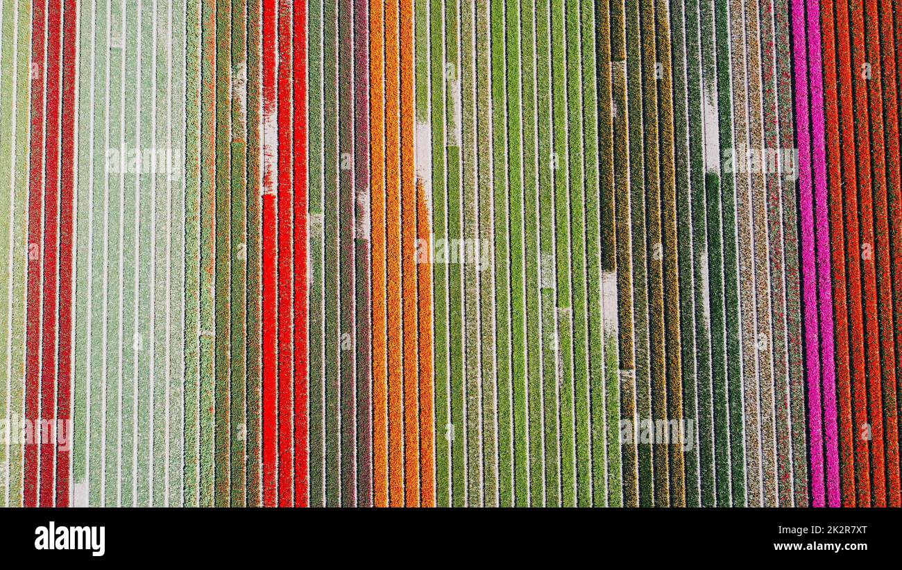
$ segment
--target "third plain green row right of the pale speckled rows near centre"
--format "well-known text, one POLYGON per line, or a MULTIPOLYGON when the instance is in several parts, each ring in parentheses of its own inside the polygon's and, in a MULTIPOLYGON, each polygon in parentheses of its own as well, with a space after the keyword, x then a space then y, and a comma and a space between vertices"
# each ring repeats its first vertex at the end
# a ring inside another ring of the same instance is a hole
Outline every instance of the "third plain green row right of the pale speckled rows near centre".
POLYGON ((523 96, 523 196, 524 252, 526 258, 527 409, 529 422, 529 505, 545 505, 545 457, 543 428, 542 294, 543 257, 539 241, 538 100, 535 0, 520 0, 523 96), (536 255, 535 253, 539 254, 536 255))

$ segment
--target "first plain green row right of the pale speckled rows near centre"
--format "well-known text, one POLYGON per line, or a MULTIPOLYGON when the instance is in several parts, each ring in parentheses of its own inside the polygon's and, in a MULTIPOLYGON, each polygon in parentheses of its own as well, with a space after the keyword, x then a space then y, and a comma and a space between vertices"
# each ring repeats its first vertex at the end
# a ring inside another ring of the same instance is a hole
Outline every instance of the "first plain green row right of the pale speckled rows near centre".
MULTIPOLYGON (((514 501, 513 443, 513 376, 511 345, 511 210, 508 205, 508 133, 507 78, 505 77, 506 45, 504 37, 504 1, 492 0, 492 188, 494 257, 492 259, 495 288, 495 390, 498 424, 498 504, 510 507, 514 501)), ((491 296, 487 296, 491 297, 491 296)))

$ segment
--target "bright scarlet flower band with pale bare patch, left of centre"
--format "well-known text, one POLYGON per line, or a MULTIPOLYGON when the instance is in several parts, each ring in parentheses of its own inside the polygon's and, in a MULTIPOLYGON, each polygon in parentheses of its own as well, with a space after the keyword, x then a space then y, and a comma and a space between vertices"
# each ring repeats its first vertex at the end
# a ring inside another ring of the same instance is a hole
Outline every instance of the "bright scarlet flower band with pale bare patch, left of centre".
POLYGON ((307 6, 264 0, 263 504, 308 505, 307 6))

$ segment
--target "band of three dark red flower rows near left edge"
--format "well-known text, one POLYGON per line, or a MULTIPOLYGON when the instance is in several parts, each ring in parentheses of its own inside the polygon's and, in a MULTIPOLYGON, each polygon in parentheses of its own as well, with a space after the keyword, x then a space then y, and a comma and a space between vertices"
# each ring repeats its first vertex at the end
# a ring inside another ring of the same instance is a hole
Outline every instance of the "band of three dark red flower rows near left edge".
MULTIPOLYGON (((76 0, 35 0, 28 203, 25 418, 57 441, 71 419, 76 0)), ((70 435, 70 434, 69 434, 70 435)), ((69 505, 69 446, 29 445, 25 506, 69 505)))

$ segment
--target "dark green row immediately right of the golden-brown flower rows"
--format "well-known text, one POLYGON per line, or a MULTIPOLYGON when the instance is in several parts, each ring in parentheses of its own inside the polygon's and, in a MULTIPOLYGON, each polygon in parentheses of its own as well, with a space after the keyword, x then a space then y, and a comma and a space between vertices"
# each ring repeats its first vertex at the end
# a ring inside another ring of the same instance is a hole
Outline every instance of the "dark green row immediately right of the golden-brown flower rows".
MULTIPOLYGON (((674 410, 674 415, 683 418, 686 422, 693 422, 695 429, 692 432, 692 446, 686 448, 685 456, 685 473, 686 473, 686 506, 700 506, 700 485, 698 478, 698 421, 697 411, 697 376, 695 371, 695 299, 693 280, 694 258, 693 258, 693 226, 692 226, 692 192, 698 188, 692 184, 698 184, 702 178, 701 165, 701 139, 702 139, 702 123, 701 113, 698 112, 693 117, 691 126, 693 132, 689 133, 689 110, 693 106, 696 111, 700 111, 699 93, 698 93, 698 43, 695 42, 695 51, 687 49, 687 30, 686 28, 686 3, 679 0, 671 5, 670 11, 670 31, 673 41, 673 117, 674 117, 674 133, 673 140, 675 145, 674 152, 674 173, 676 175, 676 244, 674 244, 677 258, 679 260, 679 338, 680 338, 680 361, 682 363, 681 374, 681 400, 682 409, 674 410), (689 60, 695 62, 695 99, 690 104, 689 101, 689 60), (690 136, 692 137, 690 139, 690 136), (692 161, 692 159, 697 159, 692 161), (690 166, 691 165, 691 166, 690 166), (693 179, 695 177, 695 179, 693 179)), ((697 7, 695 15, 695 25, 697 26, 697 7)), ((697 33, 697 32, 696 32, 697 33)), ((704 182, 701 182, 704 185, 704 182)), ((672 324, 672 323, 671 323, 672 324)), ((673 352, 668 349, 669 352, 673 352)), ((674 386, 671 386, 673 389, 674 386)), ((676 402, 671 401, 671 409, 676 402)), ((688 432, 685 432, 688 437, 688 432)), ((675 493, 676 494, 676 493, 675 493)))

